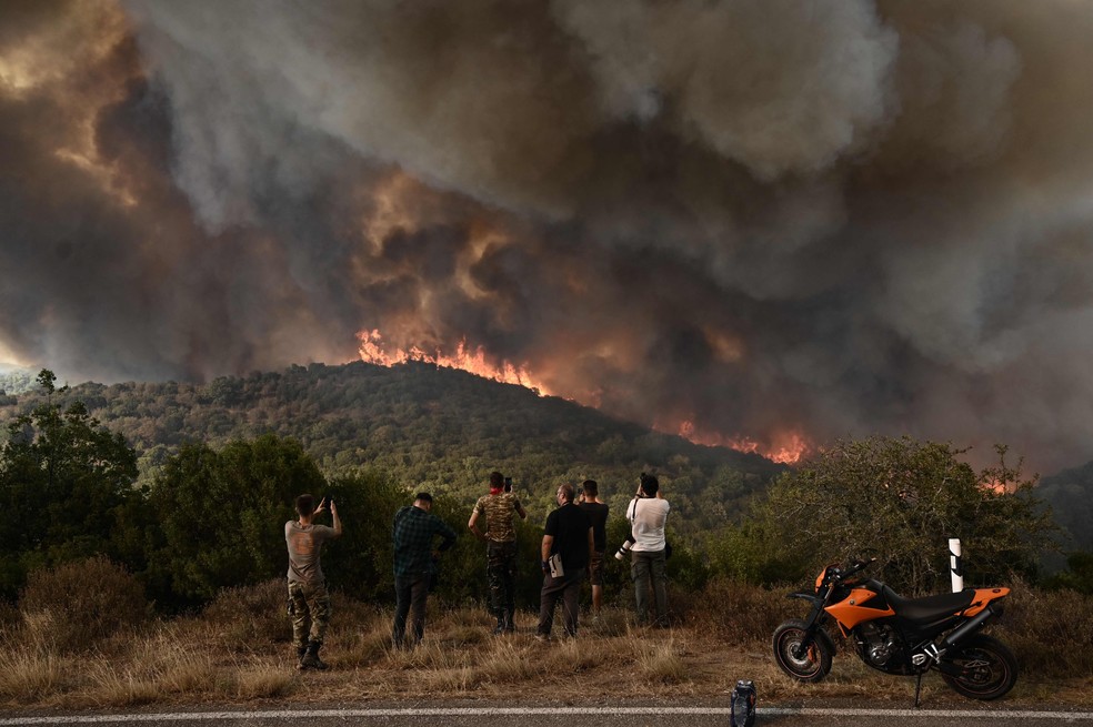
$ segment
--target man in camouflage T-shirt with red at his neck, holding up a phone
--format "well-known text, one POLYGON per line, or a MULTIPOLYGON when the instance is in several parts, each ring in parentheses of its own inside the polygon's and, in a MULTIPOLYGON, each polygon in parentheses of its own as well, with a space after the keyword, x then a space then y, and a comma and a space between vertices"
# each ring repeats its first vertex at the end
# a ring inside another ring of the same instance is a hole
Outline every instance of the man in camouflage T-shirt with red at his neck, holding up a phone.
MULTIPOLYGON (((511 482, 511 481, 509 481, 511 482)), ((517 610, 517 528, 512 514, 528 517, 523 505, 511 492, 500 472, 490 474, 490 494, 482 495, 474 504, 474 512, 467 526, 474 536, 487 542, 487 579, 490 584, 490 612, 497 616, 494 634, 511 634, 517 610), (485 515, 485 532, 478 521, 485 515)))

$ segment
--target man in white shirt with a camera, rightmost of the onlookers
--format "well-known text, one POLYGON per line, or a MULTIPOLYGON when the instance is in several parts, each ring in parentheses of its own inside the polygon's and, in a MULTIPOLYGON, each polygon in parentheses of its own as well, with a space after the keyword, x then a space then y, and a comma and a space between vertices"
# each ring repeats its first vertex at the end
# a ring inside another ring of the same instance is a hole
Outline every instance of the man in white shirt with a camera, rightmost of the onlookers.
POLYGON ((656 604, 653 625, 668 627, 668 573, 664 525, 670 505, 660 493, 660 483, 652 475, 641 474, 638 494, 626 507, 634 546, 630 551, 630 577, 634 582, 638 622, 649 623, 649 588, 652 585, 656 604))

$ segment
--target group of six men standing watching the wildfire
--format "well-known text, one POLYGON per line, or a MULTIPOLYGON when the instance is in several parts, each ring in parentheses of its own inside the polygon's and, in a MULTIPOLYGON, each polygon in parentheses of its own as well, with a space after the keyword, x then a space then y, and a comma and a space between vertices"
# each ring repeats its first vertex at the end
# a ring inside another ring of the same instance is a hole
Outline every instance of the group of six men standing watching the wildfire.
MULTIPOLYGON (((540 568, 543 584, 540 592, 539 625, 535 638, 549 640, 559 602, 562 625, 575 637, 580 613, 581 588, 591 584, 593 620, 599 618, 603 604, 603 568, 606 552, 609 507, 599 499, 599 485, 585 479, 580 491, 564 483, 554 493, 558 507, 551 511, 543 526, 540 568)), ((668 544, 664 524, 669 503, 660 492, 656 477, 642 473, 638 492, 626 507, 630 536, 619 549, 618 557, 629 551, 630 573, 639 623, 649 622, 650 590, 653 595, 653 626, 668 626, 665 561, 668 544)), ((338 508, 323 498, 315 506, 311 495, 297 498, 298 519, 284 524, 289 552, 289 614, 292 617, 297 668, 325 669, 319 658, 323 636, 330 619, 330 598, 320 565, 323 543, 342 533, 338 508), (319 525, 314 518, 329 508, 332 526, 319 525)), ((425 602, 437 577, 440 553, 455 544, 455 532, 433 515, 432 495, 420 492, 412 505, 400 507, 394 515, 394 623, 392 643, 397 648, 415 646, 425 627, 425 602), (410 633, 407 634, 409 619, 410 633)), ((487 580, 490 589, 490 612, 497 618, 495 635, 515 630, 515 582, 518 571, 515 517, 528 517, 520 499, 512 492, 512 481, 501 473, 490 475, 490 492, 474 503, 468 528, 485 541, 487 580)))

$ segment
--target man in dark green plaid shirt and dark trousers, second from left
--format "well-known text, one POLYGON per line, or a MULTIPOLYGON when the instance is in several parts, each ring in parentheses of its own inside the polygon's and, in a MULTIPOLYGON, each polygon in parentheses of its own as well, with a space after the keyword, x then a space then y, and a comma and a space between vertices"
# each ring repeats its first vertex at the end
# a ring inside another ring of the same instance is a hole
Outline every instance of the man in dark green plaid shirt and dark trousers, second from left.
POLYGON ((394 514, 391 537, 394 541, 394 626, 391 638, 395 648, 413 647, 425 633, 425 598, 435 574, 435 559, 455 545, 455 531, 429 511, 432 495, 414 495, 413 505, 394 514), (442 542, 433 551, 433 538, 442 542), (411 616, 411 637, 407 639, 407 616, 411 616), (409 643, 408 643, 409 640, 409 643))

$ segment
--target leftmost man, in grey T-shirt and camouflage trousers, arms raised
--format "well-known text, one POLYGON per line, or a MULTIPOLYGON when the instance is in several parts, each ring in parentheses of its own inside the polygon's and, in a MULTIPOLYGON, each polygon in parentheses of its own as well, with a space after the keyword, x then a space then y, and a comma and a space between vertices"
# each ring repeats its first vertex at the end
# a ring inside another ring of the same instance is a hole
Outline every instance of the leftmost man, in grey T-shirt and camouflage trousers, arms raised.
POLYGON ((322 544, 341 536, 338 507, 330 501, 333 527, 312 521, 327 511, 327 499, 315 507, 315 498, 300 495, 295 501, 299 519, 284 524, 284 543, 289 548, 289 614, 292 616, 292 643, 297 648, 298 669, 325 669, 319 658, 322 639, 330 623, 330 596, 319 555, 322 544))

